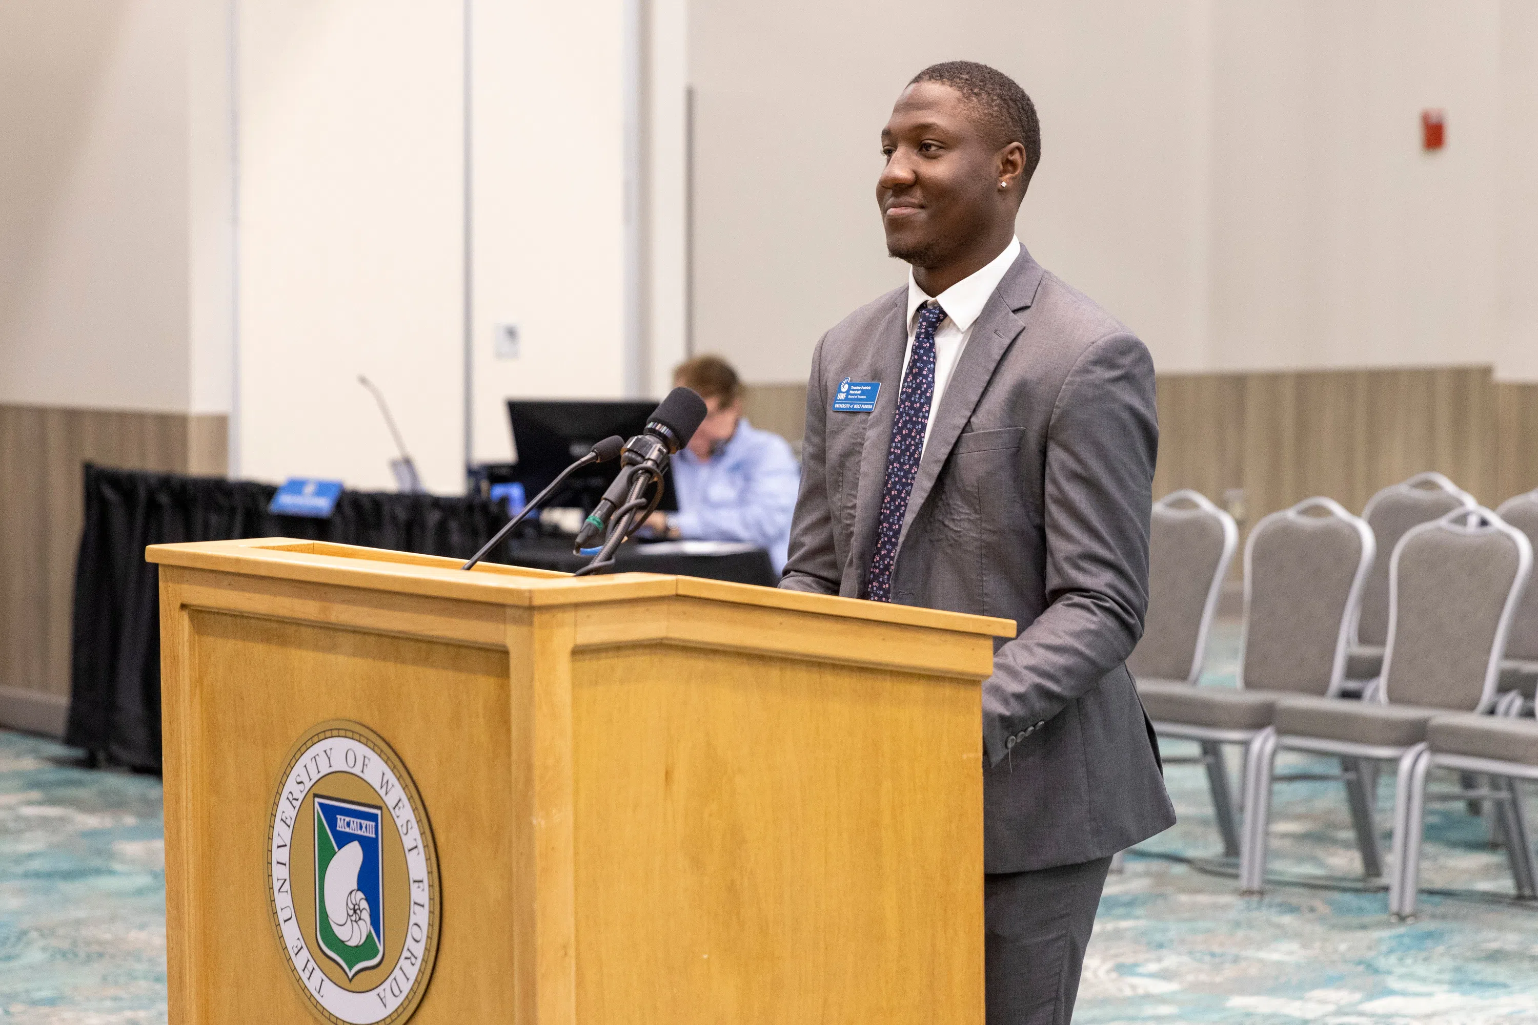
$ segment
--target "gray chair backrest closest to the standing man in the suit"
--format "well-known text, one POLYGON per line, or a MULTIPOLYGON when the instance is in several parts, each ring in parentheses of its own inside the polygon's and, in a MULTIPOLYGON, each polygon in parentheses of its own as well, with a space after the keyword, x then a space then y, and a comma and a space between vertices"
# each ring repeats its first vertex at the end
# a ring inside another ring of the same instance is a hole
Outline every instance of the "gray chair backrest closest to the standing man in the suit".
POLYGON ((1154 503, 1150 526, 1149 610, 1127 668, 1135 676, 1193 684, 1240 529, 1233 516, 1192 490, 1154 503))

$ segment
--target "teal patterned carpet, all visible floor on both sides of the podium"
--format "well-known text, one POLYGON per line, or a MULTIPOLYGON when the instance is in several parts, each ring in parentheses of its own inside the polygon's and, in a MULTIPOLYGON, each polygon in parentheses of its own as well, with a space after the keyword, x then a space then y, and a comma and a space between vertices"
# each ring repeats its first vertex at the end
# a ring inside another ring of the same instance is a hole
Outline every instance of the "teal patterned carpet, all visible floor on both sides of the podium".
MULTIPOLYGON (((1233 650, 1230 625, 1212 682, 1232 678, 1233 650)), ((74 758, 0 731, 0 1019, 165 1022, 160 782, 74 758)), ((1424 885, 1436 893, 1420 922, 1395 925, 1357 876, 1340 784, 1278 785, 1263 901, 1240 899, 1232 867, 1212 857, 1201 771, 1172 765, 1169 785, 1181 821, 1106 888, 1080 1025, 1538 1023, 1538 908, 1507 899, 1504 857, 1461 805, 1433 805, 1424 885)))

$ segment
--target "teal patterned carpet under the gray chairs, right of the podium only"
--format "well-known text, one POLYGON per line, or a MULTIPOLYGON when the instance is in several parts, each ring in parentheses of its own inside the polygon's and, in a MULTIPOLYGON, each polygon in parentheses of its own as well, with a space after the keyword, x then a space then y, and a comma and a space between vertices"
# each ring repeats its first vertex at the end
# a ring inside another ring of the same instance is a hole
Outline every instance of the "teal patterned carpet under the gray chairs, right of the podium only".
MULTIPOLYGON (((1217 633, 1204 682, 1232 685, 1237 624, 1217 633)), ((1166 753, 1195 745, 1170 742, 1166 753)), ((1337 768, 1304 755, 1278 759, 1280 771, 1337 768)), ((1237 781, 1237 756, 1229 770, 1237 781)), ((1126 874, 1106 885, 1080 1025, 1538 1022, 1538 907, 1510 901, 1506 857, 1463 804, 1429 805, 1421 885, 1441 893, 1423 890, 1420 921, 1400 925, 1389 921, 1386 893, 1361 882, 1340 782, 1277 785, 1261 901, 1237 896, 1233 867, 1215 857, 1221 844, 1201 768, 1172 765, 1167 782, 1180 822, 1134 848, 1126 874), (1172 861, 1186 857, 1206 871, 1172 861)), ((1433 782, 1446 790, 1453 778, 1433 782)), ((1532 790, 1529 821, 1538 822, 1532 790)), ((1378 794, 1386 853, 1392 808, 1390 767, 1378 794)))

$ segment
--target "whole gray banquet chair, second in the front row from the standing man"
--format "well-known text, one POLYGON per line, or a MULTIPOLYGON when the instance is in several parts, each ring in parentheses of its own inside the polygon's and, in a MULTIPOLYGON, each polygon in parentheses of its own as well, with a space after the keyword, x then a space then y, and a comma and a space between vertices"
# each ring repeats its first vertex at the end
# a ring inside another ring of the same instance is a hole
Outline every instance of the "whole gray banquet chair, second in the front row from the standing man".
MULTIPOLYGON (((1335 695, 1363 581, 1372 566, 1367 524, 1329 498, 1275 512, 1244 546, 1244 629, 1238 690, 1184 681, 1140 681, 1138 695, 1160 736, 1198 741, 1204 755, 1243 744, 1246 755, 1289 695, 1335 695)), ((1187 679, 1190 679, 1187 676, 1187 679)), ((1209 761, 1224 850, 1237 853, 1232 801, 1221 761, 1209 761)))

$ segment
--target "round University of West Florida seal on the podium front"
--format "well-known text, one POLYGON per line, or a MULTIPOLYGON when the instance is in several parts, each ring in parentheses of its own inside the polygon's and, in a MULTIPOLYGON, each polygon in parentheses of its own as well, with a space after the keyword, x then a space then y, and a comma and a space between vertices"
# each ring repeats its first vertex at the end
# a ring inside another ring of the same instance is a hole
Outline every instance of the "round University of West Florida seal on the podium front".
POLYGON ((438 854, 389 744, 346 719, 301 736, 277 782, 268 854, 272 924, 317 1017, 411 1017, 438 950, 438 854))

